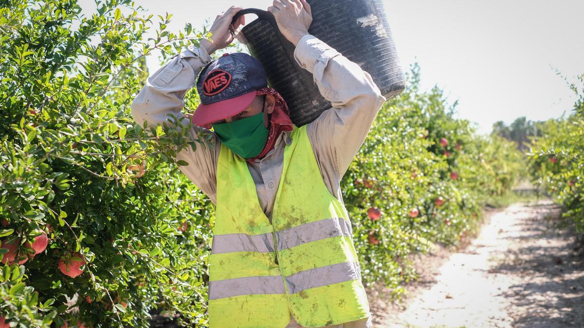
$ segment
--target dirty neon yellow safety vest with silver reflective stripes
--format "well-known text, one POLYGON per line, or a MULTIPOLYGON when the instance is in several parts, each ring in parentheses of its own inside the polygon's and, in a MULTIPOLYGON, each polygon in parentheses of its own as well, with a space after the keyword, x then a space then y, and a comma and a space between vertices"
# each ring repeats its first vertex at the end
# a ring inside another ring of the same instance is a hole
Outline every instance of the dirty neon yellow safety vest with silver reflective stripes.
POLYGON ((221 145, 210 258, 214 327, 305 327, 369 316, 345 206, 326 189, 306 125, 290 135, 272 224, 246 161, 221 145))

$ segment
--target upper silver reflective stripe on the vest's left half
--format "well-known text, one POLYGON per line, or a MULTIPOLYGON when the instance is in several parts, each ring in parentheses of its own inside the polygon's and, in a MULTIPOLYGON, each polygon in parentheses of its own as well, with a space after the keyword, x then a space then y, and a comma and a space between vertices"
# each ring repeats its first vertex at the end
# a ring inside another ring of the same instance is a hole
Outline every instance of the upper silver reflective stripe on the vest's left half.
POLYGON ((263 235, 247 235, 246 233, 228 233, 227 235, 213 236, 211 253, 231 252, 274 252, 272 233, 263 235))

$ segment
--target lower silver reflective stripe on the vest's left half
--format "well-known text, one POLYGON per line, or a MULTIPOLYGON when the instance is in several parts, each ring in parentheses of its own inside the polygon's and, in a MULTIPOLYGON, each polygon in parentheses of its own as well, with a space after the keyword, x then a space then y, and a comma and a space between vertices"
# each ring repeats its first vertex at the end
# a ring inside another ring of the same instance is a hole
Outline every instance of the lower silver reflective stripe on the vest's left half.
POLYGON ((209 299, 240 295, 284 293, 286 293, 286 289, 284 289, 284 281, 281 275, 209 281, 209 299))

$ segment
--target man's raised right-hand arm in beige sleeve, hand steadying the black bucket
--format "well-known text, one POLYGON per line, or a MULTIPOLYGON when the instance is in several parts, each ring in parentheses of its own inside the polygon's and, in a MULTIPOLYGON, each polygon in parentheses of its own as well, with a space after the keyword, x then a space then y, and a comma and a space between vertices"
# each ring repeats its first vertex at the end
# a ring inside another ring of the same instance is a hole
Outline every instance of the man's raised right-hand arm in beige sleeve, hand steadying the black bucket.
POLYGON ((338 182, 386 99, 371 75, 308 34, 312 13, 305 0, 274 0, 268 11, 284 37, 296 46, 298 65, 312 73, 321 95, 332 104, 332 109, 308 124, 307 132, 322 173, 329 175, 323 168, 332 166, 335 176, 328 180, 338 182))

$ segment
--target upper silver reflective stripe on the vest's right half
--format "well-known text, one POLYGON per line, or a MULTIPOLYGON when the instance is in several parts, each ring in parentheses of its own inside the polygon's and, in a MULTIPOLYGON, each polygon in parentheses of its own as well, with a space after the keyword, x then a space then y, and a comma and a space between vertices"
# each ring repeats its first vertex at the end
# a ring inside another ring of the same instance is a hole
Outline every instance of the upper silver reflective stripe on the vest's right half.
POLYGON ((276 232, 278 249, 287 249, 336 236, 353 236, 351 222, 343 218, 331 218, 276 232))

